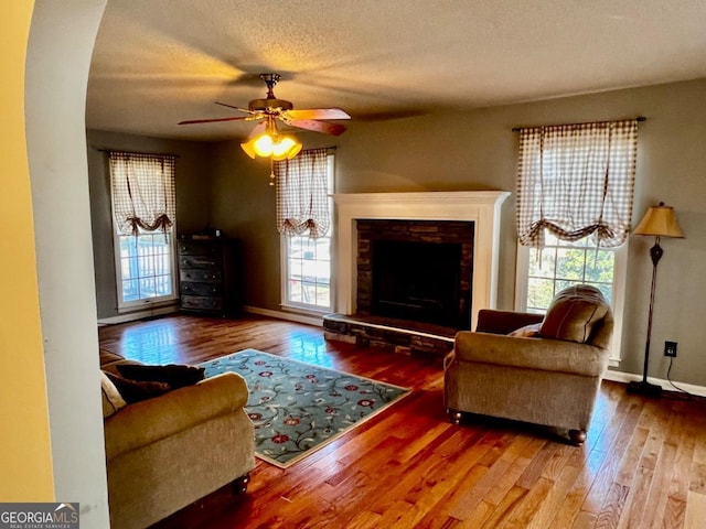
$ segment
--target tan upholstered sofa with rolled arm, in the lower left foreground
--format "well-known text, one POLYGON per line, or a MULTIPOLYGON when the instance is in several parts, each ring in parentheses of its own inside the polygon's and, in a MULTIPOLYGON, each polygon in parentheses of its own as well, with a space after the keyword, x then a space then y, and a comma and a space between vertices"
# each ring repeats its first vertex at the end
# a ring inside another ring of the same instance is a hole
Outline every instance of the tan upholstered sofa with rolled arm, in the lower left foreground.
MULTIPOLYGON (((119 374, 120 364, 135 363, 100 352, 103 371, 119 374)), ((228 483, 245 492, 255 436, 243 377, 217 375, 118 409, 105 393, 113 529, 148 527, 228 483)))

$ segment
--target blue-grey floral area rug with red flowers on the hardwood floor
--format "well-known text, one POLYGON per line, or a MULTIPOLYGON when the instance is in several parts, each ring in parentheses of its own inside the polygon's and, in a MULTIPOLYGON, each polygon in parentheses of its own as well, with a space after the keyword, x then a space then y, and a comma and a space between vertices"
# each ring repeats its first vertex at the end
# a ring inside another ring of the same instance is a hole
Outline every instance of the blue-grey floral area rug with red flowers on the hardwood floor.
POLYGON ((201 364, 247 381, 256 455, 286 468, 409 395, 368 378, 245 349, 201 364))

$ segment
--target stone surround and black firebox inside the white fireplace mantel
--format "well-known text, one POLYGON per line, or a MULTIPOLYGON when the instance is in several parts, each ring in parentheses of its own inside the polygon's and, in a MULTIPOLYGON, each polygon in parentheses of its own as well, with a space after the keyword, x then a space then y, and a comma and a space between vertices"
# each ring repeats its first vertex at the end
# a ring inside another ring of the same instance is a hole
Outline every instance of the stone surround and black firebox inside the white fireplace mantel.
POLYGON ((473 223, 360 219, 357 314, 470 328, 473 223))

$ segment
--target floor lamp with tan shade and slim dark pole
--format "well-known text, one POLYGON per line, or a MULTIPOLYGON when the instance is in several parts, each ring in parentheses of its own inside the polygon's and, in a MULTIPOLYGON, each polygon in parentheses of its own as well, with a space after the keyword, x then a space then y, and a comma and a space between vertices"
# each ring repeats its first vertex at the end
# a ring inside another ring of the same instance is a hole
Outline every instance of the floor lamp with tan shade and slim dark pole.
POLYGON ((648 382, 648 367, 650 364, 650 336, 652 335, 652 309, 654 305, 654 285, 657 278, 657 262, 662 257, 662 247, 660 246, 660 237, 684 237, 680 227, 674 209, 665 206, 663 202, 659 206, 652 206, 644 214, 642 220, 633 231, 633 235, 648 235, 655 238, 654 246, 650 248, 650 257, 652 258, 652 289, 650 290, 650 316, 648 319, 648 339, 644 345, 644 366, 642 368, 642 380, 633 381, 628 385, 628 391, 632 393, 648 395, 651 397, 660 397, 662 395, 662 386, 648 382))

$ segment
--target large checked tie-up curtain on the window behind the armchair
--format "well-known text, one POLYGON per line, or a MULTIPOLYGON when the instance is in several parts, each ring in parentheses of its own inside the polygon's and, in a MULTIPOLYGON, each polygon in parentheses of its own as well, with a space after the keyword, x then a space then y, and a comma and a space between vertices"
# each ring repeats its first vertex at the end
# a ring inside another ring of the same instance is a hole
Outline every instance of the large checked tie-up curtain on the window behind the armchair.
POLYGON ((559 125, 520 130, 517 236, 544 248, 548 229, 561 240, 593 235, 603 248, 630 231, 638 121, 559 125))

